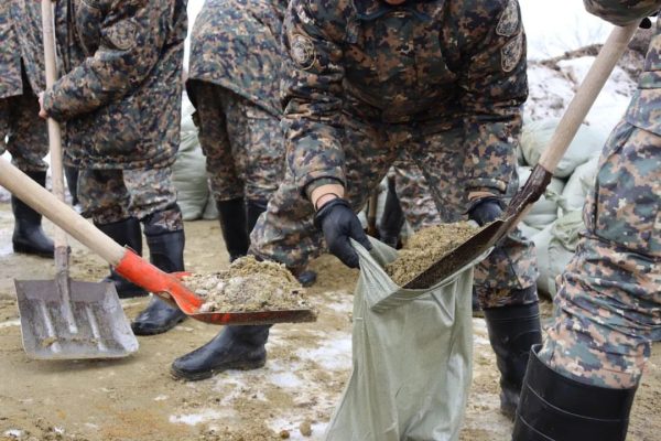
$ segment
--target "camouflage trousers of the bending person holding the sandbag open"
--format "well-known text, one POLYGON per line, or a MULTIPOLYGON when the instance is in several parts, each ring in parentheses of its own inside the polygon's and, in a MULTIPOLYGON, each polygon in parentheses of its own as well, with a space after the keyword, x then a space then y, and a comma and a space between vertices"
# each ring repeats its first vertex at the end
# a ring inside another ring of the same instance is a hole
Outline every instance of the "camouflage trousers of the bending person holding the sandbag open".
MULTIPOLYGON (((466 151, 462 130, 423 132, 405 125, 367 123, 355 118, 345 118, 343 127, 346 197, 354 211, 360 211, 405 150, 422 170, 442 220, 465 219, 465 179, 460 171, 466 151)), ((288 168, 267 213, 252 230, 251 252, 292 269, 305 266, 323 250, 323 236, 312 224, 313 215, 312 204, 301 194, 288 168)), ((514 234, 478 265, 475 282, 492 293, 496 306, 511 304, 506 292, 528 288, 537 277, 532 244, 514 234)), ((525 301, 537 301, 537 297, 525 301)))

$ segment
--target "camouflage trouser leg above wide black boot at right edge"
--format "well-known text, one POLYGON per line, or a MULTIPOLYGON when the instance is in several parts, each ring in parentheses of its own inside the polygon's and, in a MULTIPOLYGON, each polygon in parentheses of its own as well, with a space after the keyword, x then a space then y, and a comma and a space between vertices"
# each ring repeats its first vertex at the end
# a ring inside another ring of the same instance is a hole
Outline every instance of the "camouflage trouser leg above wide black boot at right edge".
POLYGON ((661 340, 661 137, 620 123, 602 154, 586 233, 559 278, 540 358, 578 381, 636 386, 661 340))

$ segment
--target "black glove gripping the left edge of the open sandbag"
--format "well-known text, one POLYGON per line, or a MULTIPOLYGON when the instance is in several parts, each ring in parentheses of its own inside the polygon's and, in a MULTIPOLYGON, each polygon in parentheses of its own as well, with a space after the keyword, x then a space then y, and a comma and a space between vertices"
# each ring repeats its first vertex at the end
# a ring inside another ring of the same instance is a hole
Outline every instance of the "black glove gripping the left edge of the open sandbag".
POLYGON ((358 255, 351 247, 349 238, 371 249, 358 216, 343 198, 334 198, 321 207, 314 215, 314 225, 324 232, 330 252, 349 268, 358 268, 358 255))

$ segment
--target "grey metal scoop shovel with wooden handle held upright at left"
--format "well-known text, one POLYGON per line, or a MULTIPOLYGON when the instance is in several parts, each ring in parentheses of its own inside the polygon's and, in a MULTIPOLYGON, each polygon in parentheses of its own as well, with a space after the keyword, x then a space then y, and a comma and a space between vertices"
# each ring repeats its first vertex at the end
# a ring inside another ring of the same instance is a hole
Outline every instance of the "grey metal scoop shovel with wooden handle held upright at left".
MULTIPOLYGON (((52 0, 42 1, 46 87, 55 83, 52 0)), ((64 201, 62 135, 48 118, 53 194, 64 201)), ((69 279, 65 232, 55 228, 55 280, 15 281, 25 353, 37 359, 116 358, 138 351, 115 287, 69 279)))

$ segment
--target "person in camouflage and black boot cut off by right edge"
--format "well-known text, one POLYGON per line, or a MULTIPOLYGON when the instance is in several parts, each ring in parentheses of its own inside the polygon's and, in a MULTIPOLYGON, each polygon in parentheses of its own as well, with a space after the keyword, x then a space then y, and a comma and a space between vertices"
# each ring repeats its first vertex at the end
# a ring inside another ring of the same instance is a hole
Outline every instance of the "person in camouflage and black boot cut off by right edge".
MULTIPOLYGON (((661 0, 585 6, 625 25, 661 0)), ((661 20, 655 26, 638 90, 602 153, 586 232, 559 278, 554 324, 531 351, 516 441, 625 440, 651 342, 661 340, 661 20)))

